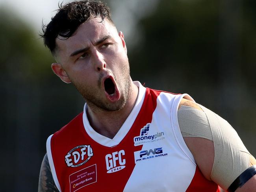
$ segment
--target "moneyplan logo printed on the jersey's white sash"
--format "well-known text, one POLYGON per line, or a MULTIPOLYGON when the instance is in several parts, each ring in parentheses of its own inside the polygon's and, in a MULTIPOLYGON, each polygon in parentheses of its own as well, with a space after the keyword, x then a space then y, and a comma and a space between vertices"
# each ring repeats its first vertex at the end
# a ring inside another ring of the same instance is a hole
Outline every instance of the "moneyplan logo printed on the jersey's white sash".
MULTIPOLYGON (((156 132, 152 135, 148 134, 148 131, 150 129, 150 123, 145 125, 140 132, 140 135, 137 137, 134 137, 134 146, 143 145, 145 143, 149 142, 155 142, 158 140, 164 139, 164 132, 156 132)), ((151 130, 152 132, 152 130, 151 130)))

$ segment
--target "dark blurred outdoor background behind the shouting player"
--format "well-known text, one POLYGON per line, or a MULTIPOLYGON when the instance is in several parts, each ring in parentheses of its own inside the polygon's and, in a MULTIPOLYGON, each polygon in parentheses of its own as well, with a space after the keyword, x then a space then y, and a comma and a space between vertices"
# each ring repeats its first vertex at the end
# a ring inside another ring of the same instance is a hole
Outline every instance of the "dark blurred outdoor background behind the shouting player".
MULTIPOLYGON (((256 1, 105 2, 124 32, 132 79, 190 94, 228 120, 256 156, 256 1)), ((54 59, 38 35, 50 15, 36 20, 40 6, 24 0, 19 12, 12 3, 0 0, 0 191, 32 192, 47 137, 80 113, 84 101, 51 71, 54 59), (24 12, 28 6, 33 11, 24 12)), ((42 9, 54 11, 54 3, 42 9)))

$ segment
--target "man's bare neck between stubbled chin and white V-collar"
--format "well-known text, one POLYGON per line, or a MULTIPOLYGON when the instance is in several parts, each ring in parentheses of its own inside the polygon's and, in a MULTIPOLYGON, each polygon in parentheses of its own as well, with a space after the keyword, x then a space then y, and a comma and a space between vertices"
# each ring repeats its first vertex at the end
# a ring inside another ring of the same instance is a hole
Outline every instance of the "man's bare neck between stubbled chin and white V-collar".
POLYGON ((130 96, 121 110, 103 111, 93 110, 88 106, 87 117, 91 127, 108 138, 113 138, 124 124, 126 118, 131 113, 138 95, 138 87, 132 82, 130 88, 130 96))

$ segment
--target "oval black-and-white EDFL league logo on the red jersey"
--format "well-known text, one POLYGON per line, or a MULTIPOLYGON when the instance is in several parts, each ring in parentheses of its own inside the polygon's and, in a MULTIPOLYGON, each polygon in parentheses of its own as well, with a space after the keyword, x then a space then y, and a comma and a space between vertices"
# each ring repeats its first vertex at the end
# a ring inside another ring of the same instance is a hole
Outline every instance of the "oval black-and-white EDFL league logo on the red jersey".
POLYGON ((90 145, 79 145, 73 148, 65 156, 65 162, 69 167, 78 167, 85 164, 93 156, 90 145))

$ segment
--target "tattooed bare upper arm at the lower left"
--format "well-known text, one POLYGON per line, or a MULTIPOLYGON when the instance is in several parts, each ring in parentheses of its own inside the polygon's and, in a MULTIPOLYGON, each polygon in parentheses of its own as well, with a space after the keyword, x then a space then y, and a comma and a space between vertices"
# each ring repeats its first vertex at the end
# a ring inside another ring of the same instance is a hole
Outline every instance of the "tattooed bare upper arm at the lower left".
POLYGON ((38 192, 59 192, 52 177, 47 153, 41 165, 38 192))

